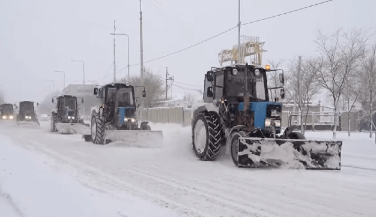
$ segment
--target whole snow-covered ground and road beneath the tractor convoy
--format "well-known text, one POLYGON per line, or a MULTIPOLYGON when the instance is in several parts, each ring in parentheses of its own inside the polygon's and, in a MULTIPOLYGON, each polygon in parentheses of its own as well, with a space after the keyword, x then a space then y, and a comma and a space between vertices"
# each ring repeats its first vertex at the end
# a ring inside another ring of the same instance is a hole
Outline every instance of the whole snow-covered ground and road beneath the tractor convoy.
POLYGON ((375 216, 376 145, 367 133, 338 133, 340 171, 251 170, 227 152, 198 161, 190 128, 152 129, 164 131, 163 148, 94 145, 50 133, 49 121, 37 130, 0 122, 0 217, 375 216))

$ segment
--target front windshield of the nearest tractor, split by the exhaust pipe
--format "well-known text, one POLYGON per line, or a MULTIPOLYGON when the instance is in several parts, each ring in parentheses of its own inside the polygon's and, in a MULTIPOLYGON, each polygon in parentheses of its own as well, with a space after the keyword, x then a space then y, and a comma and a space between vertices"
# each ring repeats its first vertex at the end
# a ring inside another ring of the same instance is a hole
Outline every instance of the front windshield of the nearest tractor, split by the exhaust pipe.
MULTIPOLYGON (((227 95, 241 97, 244 94, 245 80, 244 72, 238 72, 237 75, 228 74, 227 95)), ((253 73, 248 75, 248 92, 255 98, 252 101, 266 101, 264 76, 256 77, 253 73)))

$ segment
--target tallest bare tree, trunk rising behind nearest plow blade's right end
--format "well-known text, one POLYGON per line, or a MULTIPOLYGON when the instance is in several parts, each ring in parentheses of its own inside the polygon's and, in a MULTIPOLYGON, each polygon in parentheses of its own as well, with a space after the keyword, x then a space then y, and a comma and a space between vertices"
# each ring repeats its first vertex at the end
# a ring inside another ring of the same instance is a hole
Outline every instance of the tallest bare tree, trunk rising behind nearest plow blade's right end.
MULTIPOLYGON (((331 36, 324 36, 319 30, 315 41, 320 51, 318 58, 318 81, 320 86, 329 91, 333 99, 335 117, 346 80, 355 73, 359 60, 364 55, 369 36, 362 30, 337 30, 331 36)), ((337 135, 338 119, 334 118, 333 139, 337 135)))

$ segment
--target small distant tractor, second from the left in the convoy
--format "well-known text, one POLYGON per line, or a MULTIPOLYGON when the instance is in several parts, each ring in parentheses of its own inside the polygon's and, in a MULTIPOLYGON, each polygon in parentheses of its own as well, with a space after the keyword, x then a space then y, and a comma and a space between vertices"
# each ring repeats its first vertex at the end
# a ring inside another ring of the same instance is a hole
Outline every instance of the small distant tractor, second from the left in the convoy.
POLYGON ((39 127, 38 118, 35 112, 35 107, 38 107, 38 102, 22 101, 19 103, 17 124, 18 125, 35 125, 39 127))

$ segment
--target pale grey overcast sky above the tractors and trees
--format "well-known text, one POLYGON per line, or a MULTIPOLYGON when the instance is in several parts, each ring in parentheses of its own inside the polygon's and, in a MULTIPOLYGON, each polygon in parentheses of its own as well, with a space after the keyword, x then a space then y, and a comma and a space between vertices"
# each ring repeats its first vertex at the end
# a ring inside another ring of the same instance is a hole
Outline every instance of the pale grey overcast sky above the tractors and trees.
MULTIPOLYGON (((323 0, 242 0, 241 20, 247 23, 322 2, 323 0)), ((230 29, 238 22, 237 0, 142 0, 144 61, 155 59, 230 29)), ((241 28, 241 35, 265 42, 268 60, 310 56, 317 30, 375 28, 375 0, 334 0, 241 28)), ((1 0, 0 89, 7 101, 40 101, 52 91, 83 82, 112 81, 114 20, 117 33, 130 36, 130 64, 140 62, 139 0, 1 0), (106 74, 107 73, 107 74, 106 74), (103 78, 105 75, 110 76, 103 78)), ((202 89, 211 66, 219 66, 218 53, 237 44, 237 29, 181 53, 145 63, 164 77, 166 67, 175 81, 202 89), (200 87, 201 86, 201 87, 200 87)), ((127 66, 127 38, 117 37, 117 69, 127 66)), ((140 66, 131 66, 130 74, 140 66)), ((127 69, 118 77, 127 75, 127 69)), ((174 95, 190 92, 173 86, 174 95)), ((195 92, 195 91, 193 91, 195 92)), ((197 92, 196 92, 197 93, 197 92)))

